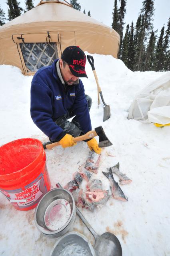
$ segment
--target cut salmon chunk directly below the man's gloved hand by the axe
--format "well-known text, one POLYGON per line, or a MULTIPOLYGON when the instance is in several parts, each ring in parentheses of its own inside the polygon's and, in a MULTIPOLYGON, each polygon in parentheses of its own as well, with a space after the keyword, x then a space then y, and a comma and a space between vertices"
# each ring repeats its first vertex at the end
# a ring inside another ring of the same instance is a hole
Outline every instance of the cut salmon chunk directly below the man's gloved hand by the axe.
POLYGON ((98 173, 100 156, 101 154, 97 154, 96 152, 94 152, 94 150, 90 151, 84 168, 88 171, 92 171, 93 173, 98 173))

